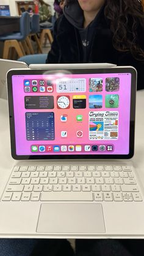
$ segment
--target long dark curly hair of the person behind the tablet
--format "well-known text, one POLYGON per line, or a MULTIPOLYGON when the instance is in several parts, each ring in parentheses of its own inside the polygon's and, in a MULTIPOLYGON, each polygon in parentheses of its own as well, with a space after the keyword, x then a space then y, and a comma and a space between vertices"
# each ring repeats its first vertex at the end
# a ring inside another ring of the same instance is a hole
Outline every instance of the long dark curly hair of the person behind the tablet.
MULTIPOLYGON (((67 4, 76 1, 67 0, 67 4)), ((144 60, 144 51, 139 43, 142 34, 144 38, 142 0, 106 0, 104 16, 110 23, 113 47, 118 51, 131 52, 135 59, 144 60)))

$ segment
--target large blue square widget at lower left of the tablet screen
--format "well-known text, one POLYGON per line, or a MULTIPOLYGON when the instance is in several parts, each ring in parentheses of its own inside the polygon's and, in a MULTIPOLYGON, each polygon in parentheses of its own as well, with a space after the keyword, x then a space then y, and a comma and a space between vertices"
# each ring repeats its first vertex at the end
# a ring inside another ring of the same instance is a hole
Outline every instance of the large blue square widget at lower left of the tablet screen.
POLYGON ((27 141, 53 141, 54 112, 26 112, 27 141))

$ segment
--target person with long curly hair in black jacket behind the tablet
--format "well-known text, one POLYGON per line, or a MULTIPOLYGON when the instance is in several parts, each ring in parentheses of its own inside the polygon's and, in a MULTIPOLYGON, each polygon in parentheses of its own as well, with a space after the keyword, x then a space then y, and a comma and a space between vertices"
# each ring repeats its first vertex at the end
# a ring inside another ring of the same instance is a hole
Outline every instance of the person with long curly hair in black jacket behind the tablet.
POLYGON ((139 0, 67 0, 46 63, 104 63, 137 69, 144 89, 144 13, 139 0))

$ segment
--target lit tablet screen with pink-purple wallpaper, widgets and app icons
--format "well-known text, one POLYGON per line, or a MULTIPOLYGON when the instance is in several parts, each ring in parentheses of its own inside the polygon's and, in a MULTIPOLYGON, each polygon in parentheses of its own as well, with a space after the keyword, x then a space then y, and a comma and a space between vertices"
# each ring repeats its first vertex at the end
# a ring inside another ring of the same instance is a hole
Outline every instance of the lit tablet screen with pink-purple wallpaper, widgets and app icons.
POLYGON ((12 89, 16 155, 128 155, 131 74, 18 75, 12 89))

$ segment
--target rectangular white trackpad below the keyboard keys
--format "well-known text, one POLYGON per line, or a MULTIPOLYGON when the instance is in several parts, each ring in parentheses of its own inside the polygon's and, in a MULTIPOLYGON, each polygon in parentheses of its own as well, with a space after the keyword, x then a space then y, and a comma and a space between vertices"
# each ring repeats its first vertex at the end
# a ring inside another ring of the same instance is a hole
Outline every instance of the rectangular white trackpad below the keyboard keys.
POLYGON ((100 203, 43 203, 37 232, 40 233, 105 233, 103 208, 100 203))

